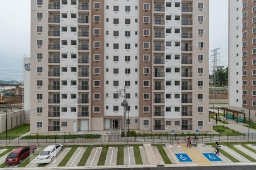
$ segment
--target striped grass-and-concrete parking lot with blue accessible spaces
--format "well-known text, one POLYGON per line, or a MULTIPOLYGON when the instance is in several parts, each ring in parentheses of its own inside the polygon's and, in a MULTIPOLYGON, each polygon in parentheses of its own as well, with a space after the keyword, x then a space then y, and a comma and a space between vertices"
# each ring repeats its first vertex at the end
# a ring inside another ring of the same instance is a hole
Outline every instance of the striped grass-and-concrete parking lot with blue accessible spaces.
POLYGON ((44 148, 38 147, 34 154, 23 160, 22 164, 12 166, 5 166, 4 163, 6 156, 14 148, 0 149, 1 168, 65 167, 71 169, 77 167, 142 167, 143 165, 156 167, 159 164, 165 166, 256 164, 256 146, 254 145, 222 145, 220 156, 214 155, 212 146, 204 144, 192 148, 186 147, 185 143, 180 145, 65 146, 52 162, 38 164, 37 156, 44 148), (170 163, 167 164, 166 162, 169 161, 170 163))

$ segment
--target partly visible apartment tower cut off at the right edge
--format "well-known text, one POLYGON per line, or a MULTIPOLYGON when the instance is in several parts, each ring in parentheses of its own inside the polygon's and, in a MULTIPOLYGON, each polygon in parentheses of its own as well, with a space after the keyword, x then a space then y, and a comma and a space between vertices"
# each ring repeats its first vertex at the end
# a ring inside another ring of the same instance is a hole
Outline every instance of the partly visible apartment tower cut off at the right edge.
POLYGON ((229 108, 256 120, 256 1, 229 1, 229 108))

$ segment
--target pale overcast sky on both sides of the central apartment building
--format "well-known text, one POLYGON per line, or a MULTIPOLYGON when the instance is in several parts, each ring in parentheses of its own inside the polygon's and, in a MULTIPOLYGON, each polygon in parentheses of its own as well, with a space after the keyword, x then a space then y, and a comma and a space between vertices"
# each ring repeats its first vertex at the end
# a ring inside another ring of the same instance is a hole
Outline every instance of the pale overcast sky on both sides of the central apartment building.
MULTIPOLYGON (((30 1, 0 6, 0 80, 22 80, 22 59, 30 53, 30 1)), ((209 0, 209 7, 209 50, 220 48, 219 65, 228 66, 228 0, 209 0)))

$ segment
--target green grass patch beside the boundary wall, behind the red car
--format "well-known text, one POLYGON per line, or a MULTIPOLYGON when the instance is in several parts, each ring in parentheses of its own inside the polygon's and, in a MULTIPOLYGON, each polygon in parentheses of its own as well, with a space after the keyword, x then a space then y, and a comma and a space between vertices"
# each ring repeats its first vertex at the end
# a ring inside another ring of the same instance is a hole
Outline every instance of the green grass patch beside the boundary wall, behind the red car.
MULTIPOLYGON (((20 125, 16 128, 7 130, 7 134, 8 134, 7 139, 9 139, 9 137, 10 139, 17 138, 20 135, 27 133, 28 131, 30 131, 30 124, 20 125)), ((0 139, 6 139, 6 131, 3 131, 2 133, 0 133, 0 139)))

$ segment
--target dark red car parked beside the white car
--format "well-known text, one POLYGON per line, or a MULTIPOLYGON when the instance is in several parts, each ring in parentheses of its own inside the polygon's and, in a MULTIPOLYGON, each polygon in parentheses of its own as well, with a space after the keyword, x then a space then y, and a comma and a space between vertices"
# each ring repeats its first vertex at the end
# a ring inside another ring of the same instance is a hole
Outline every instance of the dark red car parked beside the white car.
POLYGON ((24 146, 16 148, 6 158, 6 165, 21 164, 24 159, 36 151, 36 146, 24 146))

